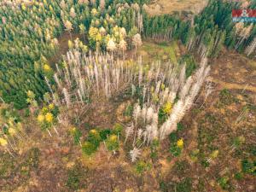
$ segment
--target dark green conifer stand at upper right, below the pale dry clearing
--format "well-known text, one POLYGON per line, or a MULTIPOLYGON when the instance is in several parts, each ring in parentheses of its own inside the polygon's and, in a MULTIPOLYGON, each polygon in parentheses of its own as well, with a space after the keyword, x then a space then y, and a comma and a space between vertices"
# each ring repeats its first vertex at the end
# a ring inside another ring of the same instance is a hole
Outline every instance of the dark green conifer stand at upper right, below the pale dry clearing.
POLYGON ((190 17, 188 20, 180 20, 172 15, 150 18, 145 15, 144 36, 154 39, 181 39, 189 49, 195 47, 201 54, 207 52, 212 57, 218 55, 223 45, 242 52, 253 42, 256 26, 246 24, 244 31, 239 31, 239 24, 234 23, 230 15, 232 9, 238 9, 238 4, 211 1, 201 15, 192 16, 193 19, 190 17))

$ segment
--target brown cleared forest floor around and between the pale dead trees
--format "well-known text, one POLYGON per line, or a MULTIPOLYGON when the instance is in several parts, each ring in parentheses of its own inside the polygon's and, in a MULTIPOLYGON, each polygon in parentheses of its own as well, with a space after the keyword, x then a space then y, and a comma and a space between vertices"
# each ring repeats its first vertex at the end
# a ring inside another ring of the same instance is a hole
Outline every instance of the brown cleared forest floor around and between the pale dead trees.
MULTIPOLYGON (((175 43, 148 42, 138 50, 148 62, 155 58, 175 61, 182 52, 175 43)), ((49 137, 27 117, 24 124, 30 137, 21 143, 18 155, 0 154, 0 191, 255 191, 255 171, 251 172, 256 156, 255 61, 224 52, 209 63, 211 95, 205 100, 205 89, 201 90, 182 128, 160 143, 156 157, 148 158, 150 149, 144 150, 141 159, 147 171, 137 172, 124 143, 115 155, 102 143, 96 154, 84 157, 73 144, 68 125, 59 128, 59 137, 49 137), (184 141, 178 157, 169 152, 176 138, 184 141)), ((98 102, 79 128, 83 134, 95 127, 111 128, 119 121, 124 103, 98 102)))

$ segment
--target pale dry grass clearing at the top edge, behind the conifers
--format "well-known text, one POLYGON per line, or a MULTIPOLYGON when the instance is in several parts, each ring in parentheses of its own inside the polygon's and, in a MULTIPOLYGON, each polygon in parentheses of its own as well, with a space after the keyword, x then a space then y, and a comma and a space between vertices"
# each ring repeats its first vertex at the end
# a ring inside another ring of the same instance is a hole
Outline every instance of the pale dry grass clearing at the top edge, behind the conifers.
POLYGON ((208 0, 155 0, 148 5, 149 15, 172 14, 174 12, 191 11, 198 14, 207 5, 208 0))

